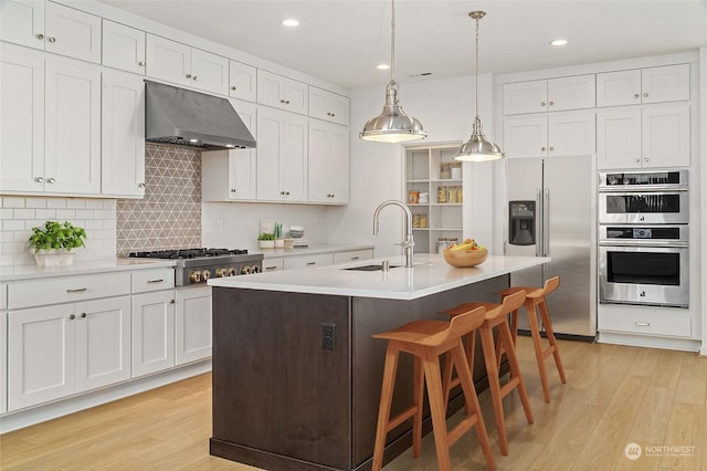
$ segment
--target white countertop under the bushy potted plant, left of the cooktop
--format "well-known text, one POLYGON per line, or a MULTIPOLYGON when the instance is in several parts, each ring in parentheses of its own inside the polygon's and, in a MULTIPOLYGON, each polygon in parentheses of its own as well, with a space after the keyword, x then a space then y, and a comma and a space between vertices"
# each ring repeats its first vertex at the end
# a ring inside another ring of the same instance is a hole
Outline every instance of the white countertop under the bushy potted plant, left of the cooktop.
POLYGON ((147 259, 97 259, 76 261, 71 266, 44 268, 36 265, 0 266, 0 281, 35 280, 53 276, 74 276, 92 273, 134 271, 175 266, 173 260, 147 259))

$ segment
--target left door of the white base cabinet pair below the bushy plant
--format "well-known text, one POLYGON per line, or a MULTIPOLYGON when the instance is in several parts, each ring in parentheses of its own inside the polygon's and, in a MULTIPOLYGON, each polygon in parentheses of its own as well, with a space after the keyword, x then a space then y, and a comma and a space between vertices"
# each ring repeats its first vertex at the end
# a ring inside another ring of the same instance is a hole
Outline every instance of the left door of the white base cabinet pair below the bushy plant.
POLYGON ((73 303, 8 313, 8 410, 75 393, 75 323, 73 303))

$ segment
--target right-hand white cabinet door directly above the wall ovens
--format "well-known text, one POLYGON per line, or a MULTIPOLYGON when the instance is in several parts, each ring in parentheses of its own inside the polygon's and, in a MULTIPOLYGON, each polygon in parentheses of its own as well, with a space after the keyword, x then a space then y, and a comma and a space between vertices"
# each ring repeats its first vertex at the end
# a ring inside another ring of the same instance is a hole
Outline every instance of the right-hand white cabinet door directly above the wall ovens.
POLYGON ((689 105, 646 107, 643 167, 689 166, 689 105))

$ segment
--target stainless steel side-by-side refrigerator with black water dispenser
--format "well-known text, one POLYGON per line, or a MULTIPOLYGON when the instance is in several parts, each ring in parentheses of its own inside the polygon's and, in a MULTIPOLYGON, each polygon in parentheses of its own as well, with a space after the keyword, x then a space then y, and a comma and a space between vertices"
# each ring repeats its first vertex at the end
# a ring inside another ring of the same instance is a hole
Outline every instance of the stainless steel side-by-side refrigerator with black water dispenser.
MULTIPOLYGON (((506 255, 550 257, 551 262, 513 274, 511 285, 542 286, 560 275, 547 299, 556 335, 593 339, 592 156, 506 159, 506 255)), ((518 328, 528 329, 521 310, 518 328)))

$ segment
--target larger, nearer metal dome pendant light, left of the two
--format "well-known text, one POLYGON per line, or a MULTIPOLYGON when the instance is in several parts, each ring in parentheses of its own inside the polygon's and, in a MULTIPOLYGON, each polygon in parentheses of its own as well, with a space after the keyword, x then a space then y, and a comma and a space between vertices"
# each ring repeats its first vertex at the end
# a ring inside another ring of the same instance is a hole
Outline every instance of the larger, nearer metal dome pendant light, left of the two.
POLYGON ((369 119, 363 130, 358 135, 363 140, 379 143, 403 143, 407 140, 424 139, 428 133, 422 124, 412 116, 408 116, 398 102, 398 82, 395 82, 395 1, 392 3, 392 20, 390 22, 390 82, 386 86, 386 104, 383 112, 369 119))

